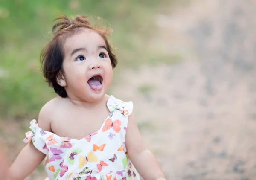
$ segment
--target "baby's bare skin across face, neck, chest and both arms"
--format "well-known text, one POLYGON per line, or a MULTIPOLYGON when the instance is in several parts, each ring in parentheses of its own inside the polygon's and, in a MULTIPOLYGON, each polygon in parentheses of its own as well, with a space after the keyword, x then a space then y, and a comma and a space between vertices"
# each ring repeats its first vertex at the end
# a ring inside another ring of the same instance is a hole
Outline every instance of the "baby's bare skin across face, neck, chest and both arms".
MULTIPOLYGON (((65 88, 68 97, 58 96, 42 107, 38 117, 40 128, 73 139, 82 139, 87 134, 99 130, 109 114, 106 107, 109 96, 106 95, 106 91, 113 76, 111 60, 104 46, 106 44, 102 37, 90 29, 84 29, 64 41, 63 72, 59 72, 57 81, 65 88), (94 91, 87 81, 93 75, 99 74, 103 78, 102 90, 94 91), (76 123, 73 123, 74 120, 76 123)), ((125 145, 128 156, 145 180, 165 180, 156 158, 140 135, 133 114, 129 116, 125 145)), ((25 179, 44 157, 45 154, 29 142, 9 168, 9 179, 25 179)))

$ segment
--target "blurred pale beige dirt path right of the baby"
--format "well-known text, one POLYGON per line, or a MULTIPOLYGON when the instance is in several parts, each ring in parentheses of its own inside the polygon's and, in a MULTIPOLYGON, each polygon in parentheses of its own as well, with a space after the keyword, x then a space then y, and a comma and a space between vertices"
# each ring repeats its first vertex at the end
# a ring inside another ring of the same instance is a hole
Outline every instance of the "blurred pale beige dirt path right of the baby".
POLYGON ((126 70, 113 88, 133 100, 167 179, 256 179, 255 9, 253 0, 166 7, 151 44, 185 60, 126 70))

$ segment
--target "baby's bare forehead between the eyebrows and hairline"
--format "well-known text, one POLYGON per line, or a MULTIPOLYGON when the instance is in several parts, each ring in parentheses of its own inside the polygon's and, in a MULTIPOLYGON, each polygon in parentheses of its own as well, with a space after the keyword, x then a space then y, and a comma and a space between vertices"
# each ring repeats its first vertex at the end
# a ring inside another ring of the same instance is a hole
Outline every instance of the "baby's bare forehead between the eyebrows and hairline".
POLYGON ((91 29, 82 29, 64 41, 64 51, 70 53, 78 48, 96 49, 102 45, 106 46, 106 43, 99 33, 91 29))

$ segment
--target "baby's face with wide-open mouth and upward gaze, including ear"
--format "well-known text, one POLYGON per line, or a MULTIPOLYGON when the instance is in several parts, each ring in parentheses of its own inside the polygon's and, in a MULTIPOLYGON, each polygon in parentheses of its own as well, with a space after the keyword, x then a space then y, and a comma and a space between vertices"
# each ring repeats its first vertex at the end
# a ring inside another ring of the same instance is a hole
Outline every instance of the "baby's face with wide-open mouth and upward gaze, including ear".
MULTIPOLYGON (((58 83, 71 99, 97 102, 111 84, 113 71, 104 39, 95 31, 84 31, 64 42, 64 73, 58 83)), ((60 77, 61 76, 61 77, 60 77)))

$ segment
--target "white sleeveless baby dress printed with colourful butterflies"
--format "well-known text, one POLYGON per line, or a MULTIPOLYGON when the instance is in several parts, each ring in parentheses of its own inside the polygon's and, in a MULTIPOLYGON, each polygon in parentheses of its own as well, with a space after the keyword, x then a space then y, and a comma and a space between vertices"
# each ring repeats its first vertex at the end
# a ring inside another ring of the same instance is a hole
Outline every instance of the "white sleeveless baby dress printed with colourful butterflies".
POLYGON ((60 137, 39 128, 35 119, 30 122, 23 142, 32 139, 35 148, 47 155, 48 180, 140 180, 125 148, 133 103, 110 96, 107 107, 110 114, 102 127, 82 139, 60 137))

